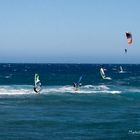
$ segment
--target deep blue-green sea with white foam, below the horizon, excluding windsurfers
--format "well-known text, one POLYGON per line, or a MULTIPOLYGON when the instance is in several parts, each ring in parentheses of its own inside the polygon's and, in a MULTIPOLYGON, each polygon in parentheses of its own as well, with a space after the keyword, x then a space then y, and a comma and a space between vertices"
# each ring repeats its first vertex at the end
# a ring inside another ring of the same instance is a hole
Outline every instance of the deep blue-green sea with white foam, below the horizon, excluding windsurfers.
POLYGON ((110 139, 140 139, 140 65, 0 64, 0 140, 110 139))

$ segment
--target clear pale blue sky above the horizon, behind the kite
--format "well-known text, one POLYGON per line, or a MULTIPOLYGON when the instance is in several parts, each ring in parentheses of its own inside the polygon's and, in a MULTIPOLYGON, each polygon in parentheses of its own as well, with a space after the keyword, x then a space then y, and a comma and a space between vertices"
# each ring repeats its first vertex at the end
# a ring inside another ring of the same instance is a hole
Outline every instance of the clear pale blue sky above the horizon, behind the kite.
POLYGON ((140 63, 139 5, 139 0, 0 1, 0 62, 140 63), (133 34, 131 46, 126 31, 133 34))

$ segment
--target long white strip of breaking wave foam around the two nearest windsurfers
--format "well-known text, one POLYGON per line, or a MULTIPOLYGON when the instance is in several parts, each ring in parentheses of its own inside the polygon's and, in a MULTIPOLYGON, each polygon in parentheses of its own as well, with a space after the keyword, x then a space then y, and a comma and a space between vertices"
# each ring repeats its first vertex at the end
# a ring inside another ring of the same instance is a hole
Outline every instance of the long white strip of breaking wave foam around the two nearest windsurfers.
MULTIPOLYGON (((81 93, 81 94, 90 94, 90 93, 111 93, 118 94, 121 91, 111 90, 105 85, 93 86, 86 85, 79 90, 74 90, 72 86, 46 86, 42 87, 40 94, 60 94, 60 93, 81 93)), ((33 91, 33 86, 0 86, 0 95, 23 95, 23 94, 35 94, 33 91)))

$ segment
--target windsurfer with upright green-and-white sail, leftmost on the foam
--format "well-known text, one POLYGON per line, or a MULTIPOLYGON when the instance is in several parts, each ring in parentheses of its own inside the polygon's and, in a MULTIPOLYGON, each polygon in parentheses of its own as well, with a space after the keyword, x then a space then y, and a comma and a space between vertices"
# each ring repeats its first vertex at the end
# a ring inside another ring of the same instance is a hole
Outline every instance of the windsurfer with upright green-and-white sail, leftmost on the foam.
POLYGON ((41 90, 41 82, 39 79, 39 75, 36 73, 34 77, 34 91, 39 92, 41 90))

